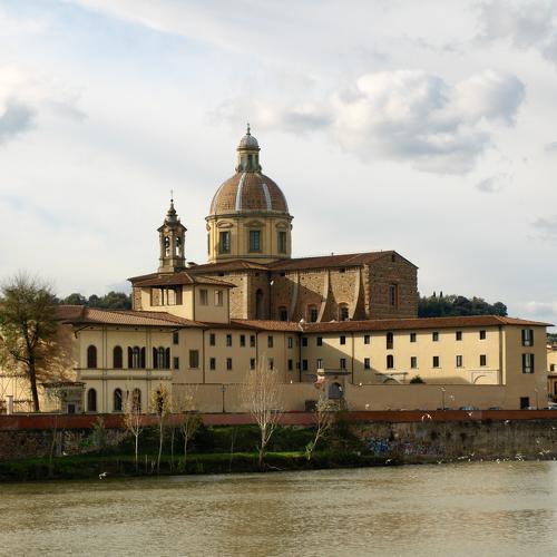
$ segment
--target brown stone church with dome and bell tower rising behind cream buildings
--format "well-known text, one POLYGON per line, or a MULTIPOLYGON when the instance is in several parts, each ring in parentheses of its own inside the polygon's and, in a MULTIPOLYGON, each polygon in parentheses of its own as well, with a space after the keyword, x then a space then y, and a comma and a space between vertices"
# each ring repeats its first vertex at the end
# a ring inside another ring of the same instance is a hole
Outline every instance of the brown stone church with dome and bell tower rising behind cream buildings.
POLYGON ((216 190, 206 217, 208 262, 187 264, 186 228, 170 204, 158 229, 157 273, 130 278, 135 310, 144 309, 145 285, 164 305, 179 281, 203 276, 234 285, 232 319, 314 323, 418 315, 418 267, 395 252, 293 258, 293 216, 281 188, 262 174, 250 126, 236 152, 236 172, 216 190))

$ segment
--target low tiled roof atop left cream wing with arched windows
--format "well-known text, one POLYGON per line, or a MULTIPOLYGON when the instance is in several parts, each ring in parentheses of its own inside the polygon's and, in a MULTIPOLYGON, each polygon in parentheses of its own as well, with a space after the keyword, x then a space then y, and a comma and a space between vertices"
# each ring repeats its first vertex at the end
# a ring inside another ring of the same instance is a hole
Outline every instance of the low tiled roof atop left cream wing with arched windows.
POLYGON ((101 310, 87 306, 60 305, 57 315, 63 323, 105 324, 133 326, 192 326, 204 328, 203 323, 178 317, 166 312, 144 312, 131 310, 101 310), (79 311, 76 309, 79 307, 79 311))

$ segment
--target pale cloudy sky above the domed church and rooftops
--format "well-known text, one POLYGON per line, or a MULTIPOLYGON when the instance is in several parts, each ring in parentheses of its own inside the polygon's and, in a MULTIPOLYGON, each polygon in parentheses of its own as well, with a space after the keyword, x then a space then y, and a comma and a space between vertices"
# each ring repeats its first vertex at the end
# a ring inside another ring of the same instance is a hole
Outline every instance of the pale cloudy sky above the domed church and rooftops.
POLYGON ((0 278, 186 257, 246 121, 293 255, 395 250, 422 294, 557 323, 557 0, 0 0, 0 278))

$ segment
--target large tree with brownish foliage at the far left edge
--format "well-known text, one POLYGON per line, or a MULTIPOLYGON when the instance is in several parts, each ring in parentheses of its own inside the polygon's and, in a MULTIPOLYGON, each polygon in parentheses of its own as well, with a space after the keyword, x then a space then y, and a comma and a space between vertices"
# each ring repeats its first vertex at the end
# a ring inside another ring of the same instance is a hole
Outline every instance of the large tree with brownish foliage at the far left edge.
POLYGON ((37 384, 59 360, 59 326, 50 286, 25 273, 0 287, 0 364, 29 382, 32 409, 40 411, 37 384))

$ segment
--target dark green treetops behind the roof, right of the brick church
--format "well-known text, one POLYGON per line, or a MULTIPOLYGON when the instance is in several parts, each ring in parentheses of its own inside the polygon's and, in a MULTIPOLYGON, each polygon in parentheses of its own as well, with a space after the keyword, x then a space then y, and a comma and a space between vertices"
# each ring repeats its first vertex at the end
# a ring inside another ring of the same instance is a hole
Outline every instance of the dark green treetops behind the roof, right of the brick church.
POLYGON ((489 304, 482 297, 471 299, 450 294, 443 296, 433 292, 431 296, 420 296, 418 301, 419 317, 455 317, 461 315, 507 315, 507 306, 502 302, 489 304))

